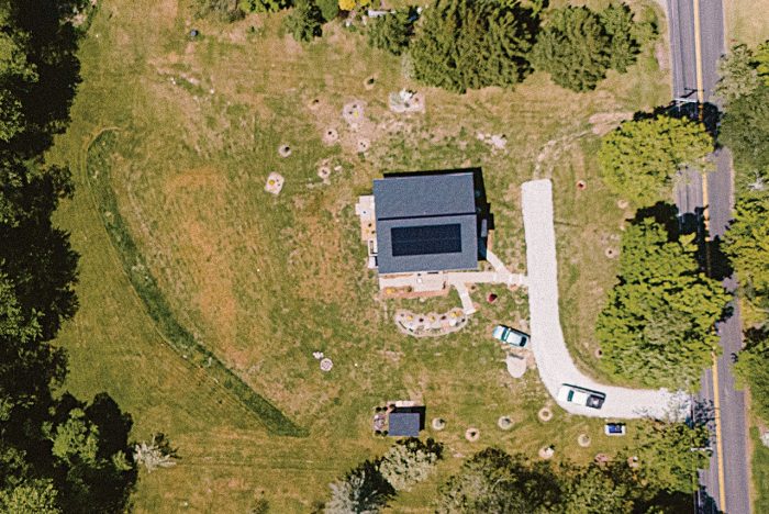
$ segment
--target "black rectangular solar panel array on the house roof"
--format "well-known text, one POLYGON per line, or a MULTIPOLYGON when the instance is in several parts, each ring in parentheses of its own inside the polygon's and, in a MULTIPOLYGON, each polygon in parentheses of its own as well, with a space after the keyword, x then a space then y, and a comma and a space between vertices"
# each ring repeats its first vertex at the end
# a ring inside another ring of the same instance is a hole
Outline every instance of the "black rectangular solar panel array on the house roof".
POLYGON ((461 225, 395 226, 390 230, 392 256, 461 253, 461 225))

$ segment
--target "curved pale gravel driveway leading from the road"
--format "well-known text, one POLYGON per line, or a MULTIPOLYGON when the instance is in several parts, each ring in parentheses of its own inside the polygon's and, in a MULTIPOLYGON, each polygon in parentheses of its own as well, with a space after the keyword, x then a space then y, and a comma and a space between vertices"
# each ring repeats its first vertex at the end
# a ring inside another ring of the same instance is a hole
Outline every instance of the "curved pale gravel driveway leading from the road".
POLYGON ((679 418, 689 411, 683 393, 666 389, 627 389, 603 386, 582 375, 575 366, 564 340, 558 313, 558 266, 553 224, 553 186, 547 179, 522 186, 523 225, 526 236, 526 267, 531 316, 532 350, 539 376, 554 399, 562 383, 580 386, 606 395, 600 410, 573 403, 558 404, 572 414, 593 417, 679 418))

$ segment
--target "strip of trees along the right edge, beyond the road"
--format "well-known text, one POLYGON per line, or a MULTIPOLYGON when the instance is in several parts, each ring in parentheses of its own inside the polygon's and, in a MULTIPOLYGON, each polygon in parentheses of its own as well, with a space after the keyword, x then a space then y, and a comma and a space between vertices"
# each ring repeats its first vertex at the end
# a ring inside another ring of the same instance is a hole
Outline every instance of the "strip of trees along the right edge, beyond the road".
POLYGON ((737 45, 720 65, 721 141, 734 155, 736 204, 723 242, 738 279, 745 349, 735 365, 769 421, 769 41, 737 45))

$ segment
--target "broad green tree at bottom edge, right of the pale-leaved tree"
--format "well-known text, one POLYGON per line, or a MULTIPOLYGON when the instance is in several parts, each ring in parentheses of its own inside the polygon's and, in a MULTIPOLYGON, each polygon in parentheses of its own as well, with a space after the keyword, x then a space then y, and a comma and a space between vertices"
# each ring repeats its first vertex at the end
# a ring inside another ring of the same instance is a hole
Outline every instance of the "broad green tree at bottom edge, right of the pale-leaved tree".
POLYGON ((437 512, 548 512, 560 496, 558 479, 546 463, 487 448, 441 488, 437 512))

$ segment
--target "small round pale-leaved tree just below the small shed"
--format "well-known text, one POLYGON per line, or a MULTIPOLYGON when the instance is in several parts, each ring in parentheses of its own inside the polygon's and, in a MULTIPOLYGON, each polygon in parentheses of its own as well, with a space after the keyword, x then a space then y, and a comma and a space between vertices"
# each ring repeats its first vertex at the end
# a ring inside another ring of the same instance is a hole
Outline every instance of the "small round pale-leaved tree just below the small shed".
POLYGON ((402 440, 384 454, 379 471, 395 491, 408 491, 433 472, 441 450, 433 439, 427 439, 427 444, 416 438, 402 440))

